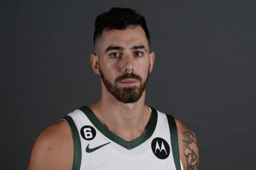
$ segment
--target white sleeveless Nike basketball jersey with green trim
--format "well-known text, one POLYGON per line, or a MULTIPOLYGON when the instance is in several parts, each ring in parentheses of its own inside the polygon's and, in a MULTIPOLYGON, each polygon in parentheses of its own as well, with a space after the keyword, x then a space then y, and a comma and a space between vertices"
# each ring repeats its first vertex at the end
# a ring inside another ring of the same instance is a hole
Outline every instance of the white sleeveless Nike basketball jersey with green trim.
POLYGON ((150 109, 147 130, 132 141, 109 131, 87 106, 63 117, 73 135, 72 169, 183 170, 174 118, 150 109))

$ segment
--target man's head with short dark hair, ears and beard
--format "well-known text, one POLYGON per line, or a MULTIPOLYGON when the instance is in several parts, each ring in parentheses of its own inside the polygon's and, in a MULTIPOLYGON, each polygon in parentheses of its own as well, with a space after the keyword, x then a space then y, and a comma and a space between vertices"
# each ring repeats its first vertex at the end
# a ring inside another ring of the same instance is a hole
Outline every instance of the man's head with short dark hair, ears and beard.
POLYGON ((154 63, 149 32, 143 16, 130 8, 111 8, 95 21, 91 64, 101 75, 102 95, 135 103, 146 89, 154 63))

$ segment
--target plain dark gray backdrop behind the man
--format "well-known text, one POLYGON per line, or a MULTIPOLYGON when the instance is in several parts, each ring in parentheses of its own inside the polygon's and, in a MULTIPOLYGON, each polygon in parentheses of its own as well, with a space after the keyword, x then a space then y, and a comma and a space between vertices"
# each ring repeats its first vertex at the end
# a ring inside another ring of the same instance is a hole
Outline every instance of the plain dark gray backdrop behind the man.
POLYGON ((156 53, 146 104, 196 132, 201 169, 255 167, 255 1, 1 1, 1 169, 26 169, 37 135, 100 97, 95 17, 143 14, 156 53))

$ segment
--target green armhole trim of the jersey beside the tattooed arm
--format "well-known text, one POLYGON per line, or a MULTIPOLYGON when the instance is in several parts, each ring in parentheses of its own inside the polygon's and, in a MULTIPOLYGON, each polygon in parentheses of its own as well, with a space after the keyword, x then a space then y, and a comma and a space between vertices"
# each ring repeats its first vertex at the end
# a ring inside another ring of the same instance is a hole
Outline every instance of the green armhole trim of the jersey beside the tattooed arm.
POLYGON ((173 155, 175 167, 177 170, 181 170, 177 125, 172 115, 166 114, 166 117, 168 120, 169 129, 170 129, 172 155, 173 155))

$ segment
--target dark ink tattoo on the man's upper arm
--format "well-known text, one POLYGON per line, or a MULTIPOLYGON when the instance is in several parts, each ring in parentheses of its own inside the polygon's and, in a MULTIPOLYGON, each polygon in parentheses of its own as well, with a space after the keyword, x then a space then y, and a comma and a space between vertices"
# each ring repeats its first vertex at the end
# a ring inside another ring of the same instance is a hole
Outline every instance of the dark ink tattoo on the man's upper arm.
POLYGON ((184 154, 187 160, 187 169, 197 170, 199 165, 199 153, 198 150, 193 148, 198 148, 198 143, 195 133, 193 133, 186 125, 182 124, 182 127, 185 129, 183 134, 183 147, 184 154))

